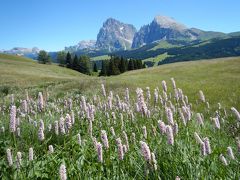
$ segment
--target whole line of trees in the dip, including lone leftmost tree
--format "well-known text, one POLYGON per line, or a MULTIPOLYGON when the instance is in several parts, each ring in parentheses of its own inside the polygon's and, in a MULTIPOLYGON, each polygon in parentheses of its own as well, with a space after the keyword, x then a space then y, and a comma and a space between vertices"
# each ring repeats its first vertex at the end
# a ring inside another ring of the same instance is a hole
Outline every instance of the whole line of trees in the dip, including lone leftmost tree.
MULTIPOLYGON (((98 72, 98 67, 95 62, 91 62, 90 57, 87 55, 77 56, 72 55, 70 52, 60 51, 56 58, 59 66, 67 67, 76 70, 80 73, 91 75, 92 72, 98 72)), ((38 61, 42 64, 50 64, 51 57, 46 51, 40 51, 38 54, 38 61)), ((146 67, 145 63, 141 60, 125 59, 115 55, 110 56, 110 60, 103 60, 101 64, 99 76, 119 75, 126 71, 142 69, 146 67)))

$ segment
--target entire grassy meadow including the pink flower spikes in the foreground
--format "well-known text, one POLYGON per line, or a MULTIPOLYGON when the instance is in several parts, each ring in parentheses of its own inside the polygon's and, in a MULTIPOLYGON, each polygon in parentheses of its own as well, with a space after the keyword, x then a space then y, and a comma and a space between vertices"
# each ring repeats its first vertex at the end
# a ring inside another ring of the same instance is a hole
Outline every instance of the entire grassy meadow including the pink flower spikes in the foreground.
POLYGON ((240 177, 239 57, 91 77, 0 55, 0 97, 1 179, 240 177))

